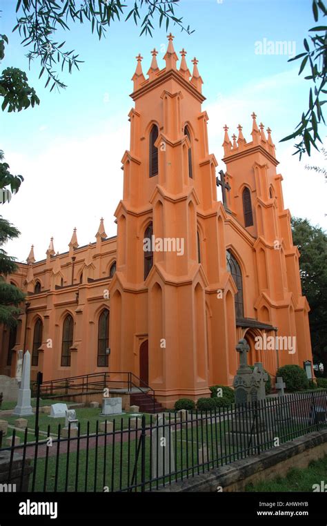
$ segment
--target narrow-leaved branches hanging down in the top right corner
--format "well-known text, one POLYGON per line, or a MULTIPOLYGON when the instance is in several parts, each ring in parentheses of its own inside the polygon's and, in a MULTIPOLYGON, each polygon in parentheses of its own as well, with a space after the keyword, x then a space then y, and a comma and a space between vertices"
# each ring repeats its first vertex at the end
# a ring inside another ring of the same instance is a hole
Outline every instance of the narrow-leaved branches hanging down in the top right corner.
MULTIPOLYGON (((326 17, 327 9, 323 0, 313 0, 313 17, 315 22, 319 16, 326 17)), ((293 57, 289 61, 302 59, 299 68, 299 75, 304 71, 306 64, 310 64, 311 74, 304 77, 313 84, 309 91, 309 107, 306 112, 302 113, 301 121, 295 128, 295 132, 288 137, 281 139, 281 142, 295 139, 298 137, 300 142, 295 144, 296 151, 293 155, 307 153, 310 157, 311 146, 319 150, 317 142, 321 143, 318 128, 319 124, 324 123, 325 119, 322 108, 326 103, 326 75, 327 75, 327 26, 315 26, 309 29, 309 32, 315 32, 315 36, 310 35, 310 43, 304 39, 303 53, 293 57)))

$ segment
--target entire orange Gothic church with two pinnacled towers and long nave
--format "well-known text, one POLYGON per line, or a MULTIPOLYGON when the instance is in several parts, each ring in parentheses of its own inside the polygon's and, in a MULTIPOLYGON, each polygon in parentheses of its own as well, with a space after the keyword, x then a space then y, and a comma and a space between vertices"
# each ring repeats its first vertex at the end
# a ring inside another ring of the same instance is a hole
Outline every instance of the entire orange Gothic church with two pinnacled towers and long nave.
POLYGON ((17 351, 29 349, 32 378, 131 371, 172 407, 231 385, 241 338, 273 379, 281 365, 312 360, 270 129, 254 113, 249 142, 225 126, 217 177, 198 61, 191 74, 183 49, 177 68, 173 38, 164 68, 153 50, 145 76, 137 57, 117 236, 101 220, 96 241, 79 246, 75 229, 67 252, 51 240, 45 260, 32 248, 8 276, 27 297, 17 330, 1 329, 0 374, 15 376, 17 351))

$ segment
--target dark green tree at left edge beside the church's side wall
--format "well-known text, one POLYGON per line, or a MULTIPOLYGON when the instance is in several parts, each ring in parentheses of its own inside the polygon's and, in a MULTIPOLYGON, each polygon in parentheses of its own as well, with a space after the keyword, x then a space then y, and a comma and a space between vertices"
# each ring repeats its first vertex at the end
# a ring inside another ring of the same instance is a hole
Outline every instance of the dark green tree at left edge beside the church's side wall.
POLYGON ((3 244, 15 239, 19 234, 15 226, 0 216, 0 323, 8 327, 17 325, 17 318, 21 312, 19 304, 25 300, 26 295, 17 286, 5 280, 8 274, 17 270, 17 264, 16 258, 9 256, 3 249, 3 244))

